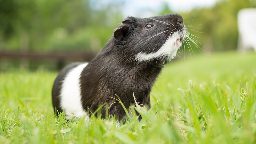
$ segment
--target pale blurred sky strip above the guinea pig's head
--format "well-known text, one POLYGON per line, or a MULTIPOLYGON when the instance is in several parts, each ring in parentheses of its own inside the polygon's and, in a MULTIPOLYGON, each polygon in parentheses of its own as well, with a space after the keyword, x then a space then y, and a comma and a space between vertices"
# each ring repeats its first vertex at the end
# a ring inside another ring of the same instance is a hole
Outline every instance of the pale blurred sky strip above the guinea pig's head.
MULTIPOLYGON (((91 6, 101 9, 107 4, 121 4, 119 7, 123 11, 123 17, 151 17, 155 16, 168 5, 170 13, 189 12, 195 7, 210 7, 219 0, 90 0, 91 6)), ((115 9, 117 7, 113 7, 115 9)))

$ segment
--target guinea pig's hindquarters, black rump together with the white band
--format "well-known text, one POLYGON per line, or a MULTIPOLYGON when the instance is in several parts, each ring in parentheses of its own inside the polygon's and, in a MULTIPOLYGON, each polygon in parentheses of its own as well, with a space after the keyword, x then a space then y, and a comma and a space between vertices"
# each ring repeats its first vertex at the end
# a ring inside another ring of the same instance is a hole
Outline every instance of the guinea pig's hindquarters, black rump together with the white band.
POLYGON ((59 112, 65 109, 66 118, 82 117, 86 112, 81 104, 80 75, 88 63, 76 62, 62 69, 52 88, 52 104, 59 112))

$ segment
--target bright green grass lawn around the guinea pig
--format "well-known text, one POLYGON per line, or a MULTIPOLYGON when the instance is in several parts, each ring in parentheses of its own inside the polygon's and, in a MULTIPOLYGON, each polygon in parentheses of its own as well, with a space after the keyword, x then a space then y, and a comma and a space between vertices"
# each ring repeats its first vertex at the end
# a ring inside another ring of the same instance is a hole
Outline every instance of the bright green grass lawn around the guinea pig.
POLYGON ((2 72, 0 143, 256 143, 255 63, 255 53, 173 61, 153 87, 152 108, 140 110, 143 120, 119 127, 108 119, 56 118, 57 72, 2 72))

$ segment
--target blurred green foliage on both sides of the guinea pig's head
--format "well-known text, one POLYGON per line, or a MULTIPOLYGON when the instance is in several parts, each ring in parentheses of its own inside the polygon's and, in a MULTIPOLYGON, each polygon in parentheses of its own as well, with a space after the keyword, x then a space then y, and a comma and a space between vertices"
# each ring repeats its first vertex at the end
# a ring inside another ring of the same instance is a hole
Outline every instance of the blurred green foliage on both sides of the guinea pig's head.
MULTIPOLYGON (((110 1, 97 9, 95 3, 0 0, 0 51, 98 52, 122 21, 125 5, 124 1, 110 1)), ((225 0, 212 7, 178 13, 203 50, 227 51, 236 49, 237 12, 255 6, 254 0, 225 0)), ((170 13, 169 7, 163 4, 158 15, 170 13)))

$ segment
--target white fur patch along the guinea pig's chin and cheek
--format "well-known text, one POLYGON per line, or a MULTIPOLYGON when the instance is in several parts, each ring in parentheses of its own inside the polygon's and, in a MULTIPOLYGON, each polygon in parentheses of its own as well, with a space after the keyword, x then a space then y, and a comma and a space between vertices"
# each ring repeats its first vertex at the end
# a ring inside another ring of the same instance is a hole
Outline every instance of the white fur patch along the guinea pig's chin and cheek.
POLYGON ((179 32, 174 32, 170 36, 164 45, 155 53, 138 53, 135 55, 135 59, 139 62, 148 61, 156 58, 168 57, 169 60, 173 59, 176 56, 177 50, 181 46, 181 42, 177 42, 177 39, 180 38, 179 32))

